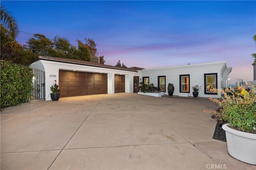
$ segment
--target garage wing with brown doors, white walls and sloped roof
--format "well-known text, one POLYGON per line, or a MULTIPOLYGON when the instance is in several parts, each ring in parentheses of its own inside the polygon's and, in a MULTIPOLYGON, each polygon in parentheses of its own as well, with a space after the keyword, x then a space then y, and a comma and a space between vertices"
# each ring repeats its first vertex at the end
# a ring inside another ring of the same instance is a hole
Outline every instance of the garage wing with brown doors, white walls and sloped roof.
POLYGON ((44 95, 42 98, 45 100, 51 99, 50 86, 54 80, 57 80, 61 90, 60 97, 132 93, 133 77, 137 73, 128 68, 43 56, 39 56, 30 67, 44 72, 44 81, 40 75, 33 78, 33 81, 35 91, 39 92, 38 95, 44 95), (41 81, 35 81, 38 79, 41 81))

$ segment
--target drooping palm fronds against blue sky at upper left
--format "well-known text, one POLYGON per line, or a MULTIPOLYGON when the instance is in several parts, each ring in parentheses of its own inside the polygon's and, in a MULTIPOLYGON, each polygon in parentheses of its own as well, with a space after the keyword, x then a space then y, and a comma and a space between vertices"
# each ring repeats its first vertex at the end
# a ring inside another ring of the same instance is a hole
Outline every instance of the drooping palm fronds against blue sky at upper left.
POLYGON ((19 27, 16 22, 16 18, 14 18, 12 13, 9 12, 2 4, 0 7, 0 16, 1 24, 10 31, 12 38, 15 39, 19 34, 19 27))

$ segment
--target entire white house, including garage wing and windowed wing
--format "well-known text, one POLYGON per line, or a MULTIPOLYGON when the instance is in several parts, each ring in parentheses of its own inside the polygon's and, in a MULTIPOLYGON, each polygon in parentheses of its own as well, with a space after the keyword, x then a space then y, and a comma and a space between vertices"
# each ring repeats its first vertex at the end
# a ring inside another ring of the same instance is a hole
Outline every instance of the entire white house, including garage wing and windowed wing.
POLYGON ((138 92, 139 82, 153 83, 168 94, 168 83, 174 84, 174 95, 180 92, 192 96, 192 86, 202 86, 200 97, 216 97, 210 88, 221 88, 232 68, 226 62, 189 64, 166 68, 122 68, 75 59, 39 56, 30 67, 40 70, 33 78, 35 96, 50 100, 50 86, 57 80, 60 97, 92 94, 138 92), (138 80, 138 81, 137 81, 138 80))

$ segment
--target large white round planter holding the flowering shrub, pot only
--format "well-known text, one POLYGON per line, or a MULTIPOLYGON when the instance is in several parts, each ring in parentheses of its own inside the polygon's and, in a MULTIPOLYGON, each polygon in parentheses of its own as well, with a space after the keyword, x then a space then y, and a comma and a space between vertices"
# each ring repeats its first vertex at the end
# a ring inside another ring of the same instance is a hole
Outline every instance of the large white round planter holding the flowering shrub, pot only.
POLYGON ((222 125, 222 129, 226 133, 228 153, 242 162, 256 165, 256 134, 237 131, 227 125, 222 125))

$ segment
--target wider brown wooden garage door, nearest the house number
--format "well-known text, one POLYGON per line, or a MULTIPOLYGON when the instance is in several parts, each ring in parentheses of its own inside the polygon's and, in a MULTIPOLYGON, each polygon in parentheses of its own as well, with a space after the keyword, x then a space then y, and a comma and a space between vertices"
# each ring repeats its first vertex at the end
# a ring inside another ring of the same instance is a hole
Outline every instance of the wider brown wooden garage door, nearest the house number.
POLYGON ((108 93, 108 75, 93 72, 59 71, 60 97, 108 93))

